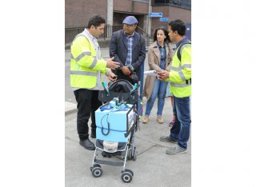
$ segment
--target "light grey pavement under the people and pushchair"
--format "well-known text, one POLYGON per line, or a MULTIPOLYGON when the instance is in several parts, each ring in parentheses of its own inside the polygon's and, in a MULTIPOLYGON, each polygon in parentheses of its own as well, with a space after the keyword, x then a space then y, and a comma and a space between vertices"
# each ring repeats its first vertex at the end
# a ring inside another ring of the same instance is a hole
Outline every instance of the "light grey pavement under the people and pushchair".
MULTIPOLYGON (((108 48, 102 48, 103 58, 108 57, 108 48)), ((69 62, 70 51, 66 50, 66 62, 69 62)), ((145 61, 145 70, 148 65, 145 61)), ((159 141, 162 135, 170 134, 168 125, 173 117, 170 97, 166 97, 162 113, 163 124, 158 124, 157 102, 150 113, 147 124, 140 123, 140 130, 135 133, 134 144, 138 150, 136 161, 127 161, 126 169, 134 172, 133 180, 124 183, 121 179, 120 166, 101 165, 102 176, 95 178, 90 172, 94 151, 86 150, 78 144, 76 129, 76 104, 65 102, 65 183, 66 187, 79 186, 191 186, 191 141, 188 142, 188 153, 178 155, 166 154, 166 149, 174 146, 170 142, 159 141)), ((146 97, 143 97, 143 111, 146 109, 146 97)), ((88 123, 90 125, 90 121, 88 123)), ((90 132, 90 130, 89 130, 90 132)), ((191 138, 191 137, 190 137, 191 138)), ((95 139, 90 138, 95 142, 95 139)), ((99 155, 99 158, 101 155, 99 155)), ((116 157, 112 161, 120 161, 116 157)))

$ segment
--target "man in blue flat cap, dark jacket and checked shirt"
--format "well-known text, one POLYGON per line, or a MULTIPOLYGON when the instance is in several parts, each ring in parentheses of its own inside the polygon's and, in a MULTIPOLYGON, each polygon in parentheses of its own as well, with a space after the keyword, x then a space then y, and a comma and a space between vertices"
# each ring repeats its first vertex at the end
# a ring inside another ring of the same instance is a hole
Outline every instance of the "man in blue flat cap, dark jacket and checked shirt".
POLYGON ((123 29, 114 32, 110 39, 110 58, 114 57, 114 61, 120 63, 120 68, 112 71, 118 79, 125 79, 134 85, 140 81, 141 66, 146 58, 145 39, 135 32, 138 20, 134 16, 127 16, 122 23, 123 29), (133 71, 137 81, 131 76, 133 71))

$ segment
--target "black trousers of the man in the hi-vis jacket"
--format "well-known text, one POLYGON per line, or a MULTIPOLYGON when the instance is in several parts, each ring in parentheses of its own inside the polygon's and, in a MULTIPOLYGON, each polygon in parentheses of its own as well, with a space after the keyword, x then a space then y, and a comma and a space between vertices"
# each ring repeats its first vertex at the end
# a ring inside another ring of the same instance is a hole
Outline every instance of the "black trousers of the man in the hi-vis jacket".
POLYGON ((77 130, 81 141, 89 138, 88 121, 91 116, 91 132, 96 134, 95 111, 102 105, 98 101, 98 90, 79 89, 74 91, 74 96, 78 102, 77 130))

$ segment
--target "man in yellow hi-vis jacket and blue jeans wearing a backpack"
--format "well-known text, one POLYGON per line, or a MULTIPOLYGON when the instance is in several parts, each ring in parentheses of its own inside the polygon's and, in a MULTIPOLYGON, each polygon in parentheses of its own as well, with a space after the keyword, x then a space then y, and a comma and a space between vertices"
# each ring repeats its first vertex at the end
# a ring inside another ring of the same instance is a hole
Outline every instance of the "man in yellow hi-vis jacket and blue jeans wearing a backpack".
POLYGON ((191 42, 186 38, 186 25, 177 19, 168 26, 170 40, 176 43, 170 72, 158 72, 160 80, 170 82, 170 93, 174 95, 174 125, 170 136, 160 137, 160 141, 177 143, 166 150, 167 154, 186 153, 190 137, 190 96, 191 96, 191 42))

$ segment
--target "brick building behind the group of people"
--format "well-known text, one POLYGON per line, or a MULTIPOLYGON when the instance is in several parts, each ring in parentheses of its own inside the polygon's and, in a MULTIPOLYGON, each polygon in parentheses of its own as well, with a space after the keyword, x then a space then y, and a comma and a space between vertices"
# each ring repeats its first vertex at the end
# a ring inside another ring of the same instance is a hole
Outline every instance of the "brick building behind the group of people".
MULTIPOLYGON (((65 0, 65 29, 73 30, 73 34, 66 32, 66 42, 70 42, 67 39, 69 35, 74 38, 74 34, 83 30, 94 14, 106 18, 103 38, 110 38, 112 32, 121 29, 122 20, 127 15, 134 15, 138 19, 138 32, 152 37, 158 26, 167 27, 168 22, 177 18, 190 27, 191 0, 65 0), (161 22, 159 18, 151 18, 151 12, 162 13, 162 17, 168 18, 168 21, 161 22)), ((191 28, 188 31, 190 37, 191 28)))

